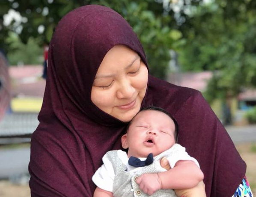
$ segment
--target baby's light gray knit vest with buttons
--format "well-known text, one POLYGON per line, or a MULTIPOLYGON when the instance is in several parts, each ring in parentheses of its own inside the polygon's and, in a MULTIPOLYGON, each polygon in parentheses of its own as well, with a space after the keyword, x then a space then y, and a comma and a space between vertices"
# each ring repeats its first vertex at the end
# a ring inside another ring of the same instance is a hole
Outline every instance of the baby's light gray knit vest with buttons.
MULTIPOLYGON (((166 171, 160 165, 160 160, 164 156, 169 157, 180 150, 180 145, 175 144, 172 148, 164 151, 154 158, 151 165, 140 167, 136 172, 126 171, 127 167, 122 163, 117 155, 117 151, 107 152, 107 158, 113 165, 115 171, 115 179, 113 183, 113 196, 114 197, 149 197, 148 194, 140 190, 139 185, 136 183, 137 177, 145 173, 158 173, 166 171)), ((175 181, 175 180, 173 180, 175 181)), ((150 197, 177 197, 172 189, 161 189, 156 191, 150 197)))

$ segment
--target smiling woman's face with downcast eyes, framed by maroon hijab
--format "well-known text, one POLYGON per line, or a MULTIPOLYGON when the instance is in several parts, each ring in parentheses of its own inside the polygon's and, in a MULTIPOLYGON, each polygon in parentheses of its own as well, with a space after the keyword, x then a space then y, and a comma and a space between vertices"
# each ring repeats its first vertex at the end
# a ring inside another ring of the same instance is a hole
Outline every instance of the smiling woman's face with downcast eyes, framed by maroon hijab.
POLYGON ((147 67, 136 52, 116 45, 98 68, 92 85, 92 102, 111 116, 129 122, 140 110, 148 76, 147 67))

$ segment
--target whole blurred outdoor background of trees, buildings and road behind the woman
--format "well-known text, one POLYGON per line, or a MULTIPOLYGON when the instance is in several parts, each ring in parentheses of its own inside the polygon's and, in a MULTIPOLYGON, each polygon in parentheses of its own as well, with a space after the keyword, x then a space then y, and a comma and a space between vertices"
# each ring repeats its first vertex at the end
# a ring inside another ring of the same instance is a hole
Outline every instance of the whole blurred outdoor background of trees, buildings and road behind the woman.
POLYGON ((128 20, 152 75, 203 93, 247 162, 256 195, 255 0, 1 0, 0 197, 30 197, 48 44, 58 21, 88 4, 128 20))

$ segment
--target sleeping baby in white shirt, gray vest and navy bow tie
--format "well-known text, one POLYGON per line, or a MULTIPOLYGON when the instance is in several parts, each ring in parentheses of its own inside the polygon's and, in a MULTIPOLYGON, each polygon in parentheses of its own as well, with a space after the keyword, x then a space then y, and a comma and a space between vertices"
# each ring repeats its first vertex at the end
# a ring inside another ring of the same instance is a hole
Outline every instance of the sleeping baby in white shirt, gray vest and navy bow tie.
POLYGON ((173 189, 196 186, 203 179, 199 164, 176 144, 178 125, 159 107, 141 110, 122 136, 122 150, 109 151, 92 177, 94 197, 176 197, 173 189), (167 157, 171 169, 161 167, 167 157), (154 157, 154 158, 153 158, 154 157))

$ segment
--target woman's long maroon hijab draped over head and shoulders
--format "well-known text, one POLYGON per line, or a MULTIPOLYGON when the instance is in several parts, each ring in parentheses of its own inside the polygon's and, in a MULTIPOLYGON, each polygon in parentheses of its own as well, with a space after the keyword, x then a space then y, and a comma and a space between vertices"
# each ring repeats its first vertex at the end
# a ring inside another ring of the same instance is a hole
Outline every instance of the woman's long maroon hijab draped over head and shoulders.
MULTIPOLYGON (((92 197, 91 177, 102 156, 121 148, 126 123, 90 99, 98 67, 117 44, 133 49, 146 63, 129 24, 107 7, 80 7, 58 24, 50 43, 40 124, 31 141, 32 197, 92 197)), ((246 165, 201 94, 150 76, 143 107, 149 105, 163 107, 179 122, 179 143, 199 161, 207 196, 232 196, 246 165)))

